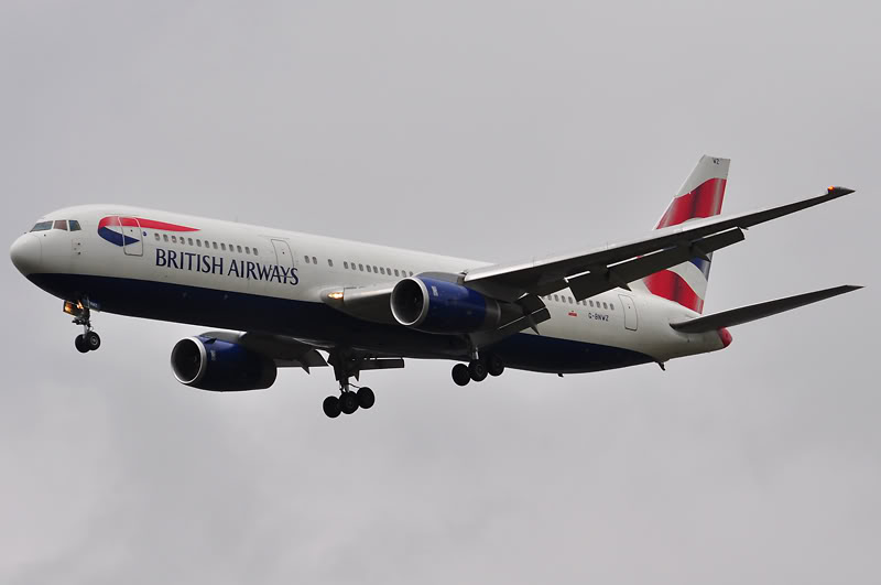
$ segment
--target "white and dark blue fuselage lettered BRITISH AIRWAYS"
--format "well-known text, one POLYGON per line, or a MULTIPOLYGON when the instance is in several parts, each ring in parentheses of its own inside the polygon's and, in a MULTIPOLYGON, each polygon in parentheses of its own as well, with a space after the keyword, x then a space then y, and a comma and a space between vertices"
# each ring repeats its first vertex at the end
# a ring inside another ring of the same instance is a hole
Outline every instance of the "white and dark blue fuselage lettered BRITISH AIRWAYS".
MULTIPOLYGON (((424 272, 458 274, 487 262, 118 205, 70 207, 44 218, 56 219, 76 220, 81 229, 21 236, 15 246, 28 251, 17 264, 63 299, 85 300, 99 311, 287 335, 318 347, 467 359, 448 336, 359 322, 328 307, 320 294, 424 272), (117 217, 150 223, 111 220, 101 236, 100 221, 117 217), (120 241, 111 241, 116 237, 120 241)), ((697 314, 635 286, 581 303, 568 290, 542 299, 551 318, 539 325, 539 335, 527 329, 500 344, 511 353, 511 367, 592 371, 724 347, 716 332, 671 328, 671 322, 697 314)))

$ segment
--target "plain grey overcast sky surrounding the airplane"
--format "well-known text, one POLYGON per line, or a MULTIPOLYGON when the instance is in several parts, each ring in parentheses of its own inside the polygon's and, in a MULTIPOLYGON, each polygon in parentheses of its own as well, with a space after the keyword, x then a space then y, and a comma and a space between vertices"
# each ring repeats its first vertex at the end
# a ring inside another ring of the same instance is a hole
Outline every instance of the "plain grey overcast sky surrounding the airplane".
POLYGON ((116 202, 513 261, 643 235, 708 153, 726 212, 858 193, 718 252, 706 312, 869 288, 665 373, 410 361, 329 421, 327 370, 178 384, 198 328, 101 314, 81 356, 0 262, 0 582, 878 583, 868 6, 3 1, 7 246, 116 202))

